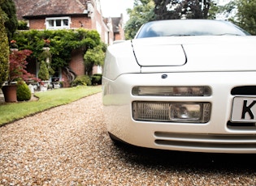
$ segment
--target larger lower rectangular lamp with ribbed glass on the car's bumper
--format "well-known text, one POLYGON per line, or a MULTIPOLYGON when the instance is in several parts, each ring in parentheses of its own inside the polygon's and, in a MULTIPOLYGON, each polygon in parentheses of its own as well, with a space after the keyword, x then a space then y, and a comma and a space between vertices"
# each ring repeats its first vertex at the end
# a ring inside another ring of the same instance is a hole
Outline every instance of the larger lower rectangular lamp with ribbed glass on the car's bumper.
POLYGON ((132 102, 134 120, 207 123, 210 103, 132 102))

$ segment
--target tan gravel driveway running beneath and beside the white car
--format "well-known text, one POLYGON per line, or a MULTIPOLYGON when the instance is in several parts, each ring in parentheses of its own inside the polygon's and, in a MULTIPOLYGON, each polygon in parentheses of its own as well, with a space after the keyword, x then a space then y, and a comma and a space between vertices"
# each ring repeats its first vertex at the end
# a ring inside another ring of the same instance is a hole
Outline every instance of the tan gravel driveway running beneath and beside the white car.
POLYGON ((0 128, 0 185, 255 185, 255 154, 114 144, 101 94, 0 128))

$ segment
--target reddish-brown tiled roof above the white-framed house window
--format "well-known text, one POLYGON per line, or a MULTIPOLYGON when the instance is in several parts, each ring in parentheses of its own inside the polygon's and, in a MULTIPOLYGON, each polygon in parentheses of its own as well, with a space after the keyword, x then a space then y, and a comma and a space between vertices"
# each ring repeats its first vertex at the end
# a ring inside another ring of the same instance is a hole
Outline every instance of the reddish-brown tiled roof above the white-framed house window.
POLYGON ((82 14, 86 0, 14 0, 17 17, 82 14), (84 3, 82 3, 84 2, 84 3))

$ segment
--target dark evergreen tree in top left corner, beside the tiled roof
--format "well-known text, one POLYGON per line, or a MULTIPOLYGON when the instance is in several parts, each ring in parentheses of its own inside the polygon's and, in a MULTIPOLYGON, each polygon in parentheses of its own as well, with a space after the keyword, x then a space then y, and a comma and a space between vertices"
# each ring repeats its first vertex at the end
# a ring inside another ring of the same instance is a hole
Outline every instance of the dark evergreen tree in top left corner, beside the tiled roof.
POLYGON ((9 40, 11 40, 13 34, 15 33, 18 27, 15 2, 13 2, 12 0, 5 0, 0 4, 0 6, 2 8, 2 11, 5 12, 5 27, 7 29, 7 36, 9 40))

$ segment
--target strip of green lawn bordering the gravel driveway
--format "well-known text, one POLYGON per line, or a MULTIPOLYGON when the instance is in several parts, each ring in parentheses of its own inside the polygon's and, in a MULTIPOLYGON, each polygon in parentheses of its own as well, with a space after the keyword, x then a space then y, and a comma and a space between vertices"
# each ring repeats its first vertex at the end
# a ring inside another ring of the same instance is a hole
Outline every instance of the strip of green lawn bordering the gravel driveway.
POLYGON ((43 112, 49 108, 72 103, 100 91, 102 91, 101 86, 61 88, 53 91, 37 92, 35 94, 39 98, 37 101, 0 104, 0 126, 37 112, 43 112))

